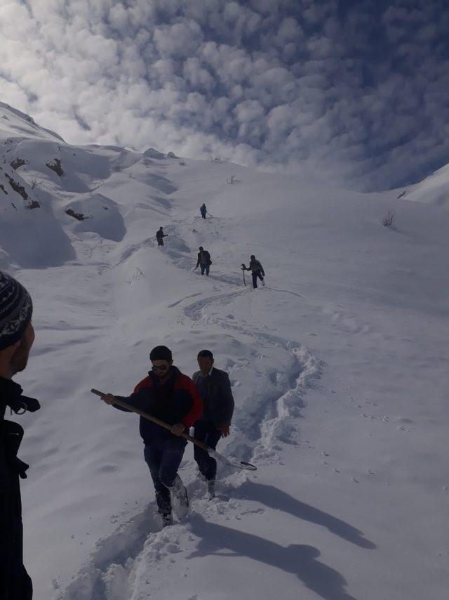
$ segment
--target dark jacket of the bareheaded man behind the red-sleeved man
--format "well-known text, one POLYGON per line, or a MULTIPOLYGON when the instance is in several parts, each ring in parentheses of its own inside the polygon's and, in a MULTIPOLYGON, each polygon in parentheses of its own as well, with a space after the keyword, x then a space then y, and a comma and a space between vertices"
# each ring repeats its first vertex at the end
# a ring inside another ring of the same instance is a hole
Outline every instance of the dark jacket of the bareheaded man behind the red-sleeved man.
MULTIPOLYGON (((203 379, 201 371, 196 371, 192 379, 201 393, 201 387, 205 383, 201 381, 203 379)), ((206 377, 206 390, 206 393, 201 395, 204 403, 204 413, 200 419, 213 421, 215 427, 230 425, 234 412, 234 398, 227 372, 213 367, 210 375, 206 377)))

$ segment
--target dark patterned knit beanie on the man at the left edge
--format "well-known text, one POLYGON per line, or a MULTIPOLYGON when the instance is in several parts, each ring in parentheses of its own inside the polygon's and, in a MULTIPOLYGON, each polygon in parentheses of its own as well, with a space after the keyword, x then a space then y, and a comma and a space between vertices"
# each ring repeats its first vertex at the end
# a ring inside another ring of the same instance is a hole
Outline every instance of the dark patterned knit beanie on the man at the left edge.
POLYGON ((33 304, 25 287, 0 271, 0 350, 20 340, 32 312, 33 304))

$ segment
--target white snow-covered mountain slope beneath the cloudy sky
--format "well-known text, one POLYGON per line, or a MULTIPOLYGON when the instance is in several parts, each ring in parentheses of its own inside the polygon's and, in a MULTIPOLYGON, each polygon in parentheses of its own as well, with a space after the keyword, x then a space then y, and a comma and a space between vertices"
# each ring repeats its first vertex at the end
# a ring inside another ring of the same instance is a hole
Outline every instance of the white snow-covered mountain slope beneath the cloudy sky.
POLYGON ((446 599, 447 202, 146 154, 0 104, 0 268, 32 294, 17 381, 42 405, 13 417, 36 600, 446 599), (243 287, 250 254, 266 287, 243 287), (257 465, 219 465, 208 501, 188 445, 190 513, 163 530, 138 417, 90 391, 128 395, 157 344, 189 375, 213 351, 236 400, 217 450, 257 465))

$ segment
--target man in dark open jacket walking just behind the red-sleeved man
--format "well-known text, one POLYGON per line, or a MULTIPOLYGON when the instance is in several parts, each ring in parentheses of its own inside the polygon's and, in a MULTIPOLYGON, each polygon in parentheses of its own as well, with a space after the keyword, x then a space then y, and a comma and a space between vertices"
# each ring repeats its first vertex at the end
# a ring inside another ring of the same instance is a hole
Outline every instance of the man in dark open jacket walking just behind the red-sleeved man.
MULTIPOLYGON (((231 382, 227 372, 213 366, 213 353, 210 350, 201 350, 197 358, 200 370, 193 374, 192 379, 199 389, 204 410, 203 415, 195 422, 194 438, 215 450, 218 440, 229 436, 234 412, 231 382)), ((217 461, 198 446, 194 448, 194 457, 201 474, 208 482, 208 495, 212 500, 215 497, 217 461)))

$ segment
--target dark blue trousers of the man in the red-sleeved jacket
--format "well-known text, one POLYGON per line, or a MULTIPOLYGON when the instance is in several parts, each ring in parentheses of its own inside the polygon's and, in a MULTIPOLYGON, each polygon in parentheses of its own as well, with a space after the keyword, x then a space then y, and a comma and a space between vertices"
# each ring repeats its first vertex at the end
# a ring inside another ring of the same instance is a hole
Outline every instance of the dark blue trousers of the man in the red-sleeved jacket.
POLYGON ((187 440, 176 436, 155 438, 145 444, 143 455, 152 476, 159 512, 171 512, 170 490, 177 475, 187 440))

